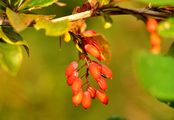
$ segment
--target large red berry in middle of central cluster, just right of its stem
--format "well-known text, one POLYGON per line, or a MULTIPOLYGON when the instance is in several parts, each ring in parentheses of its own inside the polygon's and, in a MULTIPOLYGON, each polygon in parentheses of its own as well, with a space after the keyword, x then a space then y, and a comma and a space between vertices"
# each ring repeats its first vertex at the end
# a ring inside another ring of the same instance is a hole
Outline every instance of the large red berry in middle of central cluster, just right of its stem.
POLYGON ((91 73, 92 77, 97 80, 101 77, 101 66, 95 62, 91 62, 89 64, 89 72, 91 73))

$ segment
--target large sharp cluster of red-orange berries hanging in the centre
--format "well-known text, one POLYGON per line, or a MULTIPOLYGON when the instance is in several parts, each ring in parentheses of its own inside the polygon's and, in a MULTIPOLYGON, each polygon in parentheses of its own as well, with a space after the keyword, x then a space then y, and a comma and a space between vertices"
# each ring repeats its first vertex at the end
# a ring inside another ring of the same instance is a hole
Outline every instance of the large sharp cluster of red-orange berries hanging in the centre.
POLYGON ((97 97, 103 104, 108 104, 108 96, 105 93, 107 90, 107 83, 104 78, 112 79, 112 71, 104 64, 100 64, 97 61, 91 60, 88 56, 91 56, 102 61, 105 57, 102 54, 100 46, 92 39, 92 36, 96 34, 95 31, 85 31, 83 35, 74 38, 76 47, 80 49, 80 60, 84 60, 85 64, 78 67, 78 61, 71 62, 66 68, 67 84, 72 88, 72 103, 75 106, 82 104, 82 107, 87 109, 91 105, 91 99, 97 97), (80 41, 79 41, 80 40, 80 41), (85 74, 79 77, 79 71, 84 68, 86 69, 85 74), (89 82, 88 76, 91 75, 98 88, 95 88, 89 82), (83 78, 85 81, 83 83, 83 78))

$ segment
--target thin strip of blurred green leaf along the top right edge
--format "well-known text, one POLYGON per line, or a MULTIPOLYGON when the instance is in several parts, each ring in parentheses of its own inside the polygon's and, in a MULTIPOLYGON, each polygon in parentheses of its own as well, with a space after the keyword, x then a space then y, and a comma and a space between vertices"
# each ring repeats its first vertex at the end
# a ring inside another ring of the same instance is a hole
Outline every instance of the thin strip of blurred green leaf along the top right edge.
POLYGON ((136 0, 145 3, 151 3, 154 5, 174 5, 173 0, 136 0))

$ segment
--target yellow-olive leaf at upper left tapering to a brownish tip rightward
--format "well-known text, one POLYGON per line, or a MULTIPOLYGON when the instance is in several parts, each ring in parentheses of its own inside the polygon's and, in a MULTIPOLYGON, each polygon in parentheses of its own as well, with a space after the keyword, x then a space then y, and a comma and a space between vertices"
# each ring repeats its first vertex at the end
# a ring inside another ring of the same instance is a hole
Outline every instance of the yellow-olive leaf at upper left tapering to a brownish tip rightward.
POLYGON ((51 19, 54 17, 53 15, 18 14, 9 8, 6 9, 6 14, 10 24, 17 32, 26 29, 34 20, 40 18, 51 19))

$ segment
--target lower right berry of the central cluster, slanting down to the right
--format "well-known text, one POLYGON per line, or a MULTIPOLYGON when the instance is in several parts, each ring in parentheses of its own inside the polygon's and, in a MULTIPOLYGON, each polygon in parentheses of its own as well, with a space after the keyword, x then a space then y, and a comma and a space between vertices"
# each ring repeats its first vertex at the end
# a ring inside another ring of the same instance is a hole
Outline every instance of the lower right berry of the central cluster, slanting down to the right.
POLYGON ((108 97, 102 90, 97 90, 96 92, 97 98, 105 105, 108 104, 108 97))

